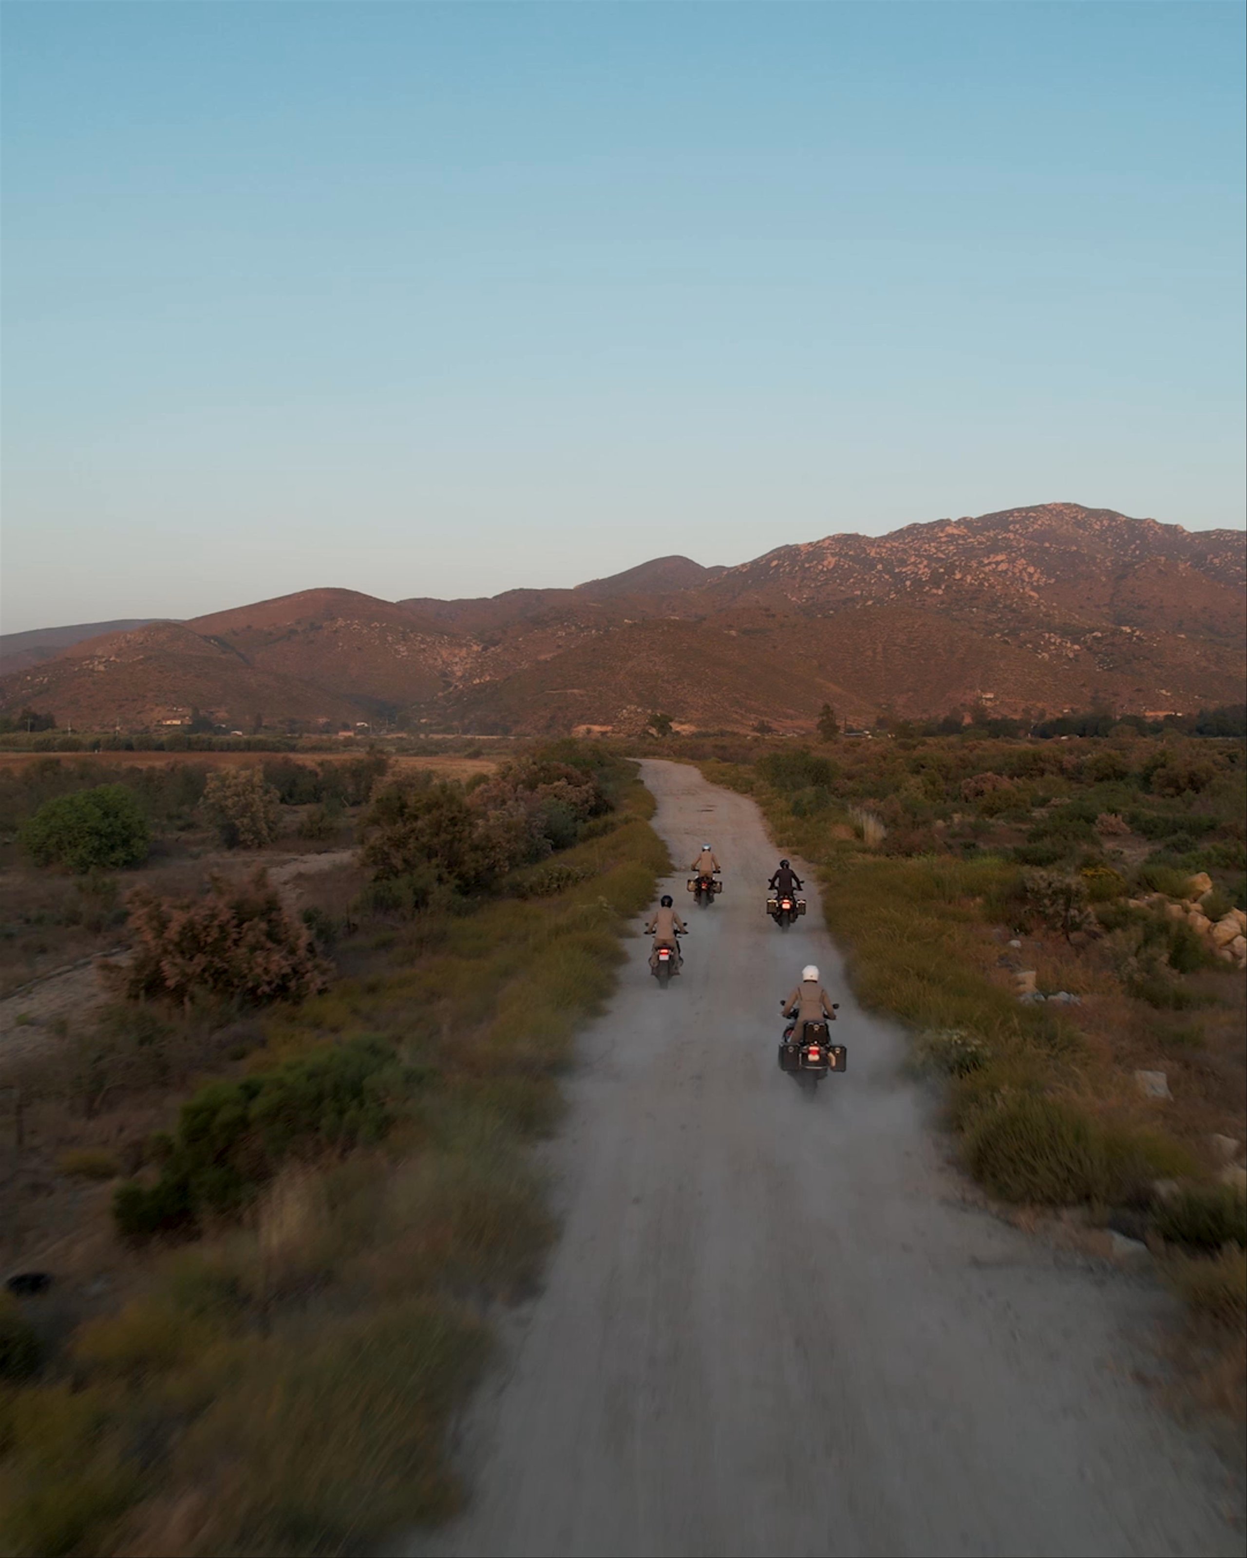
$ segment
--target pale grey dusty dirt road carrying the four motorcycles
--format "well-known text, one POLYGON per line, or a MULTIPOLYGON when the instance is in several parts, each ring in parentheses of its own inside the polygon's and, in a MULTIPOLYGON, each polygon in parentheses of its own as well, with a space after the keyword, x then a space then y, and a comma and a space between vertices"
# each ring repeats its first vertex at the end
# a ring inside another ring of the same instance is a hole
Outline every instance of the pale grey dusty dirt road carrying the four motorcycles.
POLYGON ((546 1288, 466 1426, 466 1516, 410 1550, 1241 1552, 1239 1493, 1130 1373, 1168 1299, 965 1204, 817 894, 765 918, 751 802, 645 782, 676 863, 709 840, 726 888, 670 989, 638 939, 583 1038, 546 1288), (775 1063, 807 961, 850 1053, 814 1100, 775 1063))

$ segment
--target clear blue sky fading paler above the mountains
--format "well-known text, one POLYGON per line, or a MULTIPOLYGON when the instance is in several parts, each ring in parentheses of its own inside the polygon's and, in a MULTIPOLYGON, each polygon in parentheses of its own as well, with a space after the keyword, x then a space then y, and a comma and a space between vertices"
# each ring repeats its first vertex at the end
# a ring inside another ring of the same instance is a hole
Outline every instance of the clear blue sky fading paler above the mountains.
POLYGON ((1244 523, 1244 8, 3 5, 6 631, 1244 523))

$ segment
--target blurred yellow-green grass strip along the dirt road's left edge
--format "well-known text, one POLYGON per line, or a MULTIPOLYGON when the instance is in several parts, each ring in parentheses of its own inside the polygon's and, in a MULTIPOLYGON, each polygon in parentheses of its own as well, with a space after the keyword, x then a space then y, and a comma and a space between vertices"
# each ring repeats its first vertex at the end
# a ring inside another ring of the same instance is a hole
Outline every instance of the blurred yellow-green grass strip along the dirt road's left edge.
POLYGON ((447 1426, 489 1306, 532 1288, 555 1232, 528 1144, 669 869, 652 812, 631 781, 617 824, 560 852, 563 891, 396 925, 380 971, 262 1019, 235 1075, 373 1045, 387 1126, 238 1139, 200 1237, 139 1246, 129 1302, 0 1380, 6 1552, 354 1553, 457 1508, 447 1426))

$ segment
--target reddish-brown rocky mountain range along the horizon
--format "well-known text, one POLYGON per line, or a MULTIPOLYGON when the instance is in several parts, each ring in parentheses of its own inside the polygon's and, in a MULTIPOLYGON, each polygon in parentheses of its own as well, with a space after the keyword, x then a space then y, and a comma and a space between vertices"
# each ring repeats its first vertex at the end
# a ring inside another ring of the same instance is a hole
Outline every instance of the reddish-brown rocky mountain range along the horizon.
POLYGON ((800 731, 823 703, 854 723, 979 701, 1189 712, 1244 700, 1245 584, 1241 531, 1044 503, 737 567, 658 558, 575 589, 313 589, 189 622, 14 634, 0 640, 0 712, 31 706, 75 729, 196 710, 240 729, 475 734, 631 731, 653 710, 800 731))

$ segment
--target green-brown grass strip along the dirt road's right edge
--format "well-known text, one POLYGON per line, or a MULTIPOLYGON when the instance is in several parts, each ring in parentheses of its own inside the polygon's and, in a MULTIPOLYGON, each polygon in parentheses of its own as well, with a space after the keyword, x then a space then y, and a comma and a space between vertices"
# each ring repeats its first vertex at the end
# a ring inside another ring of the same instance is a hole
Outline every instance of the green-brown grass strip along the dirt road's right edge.
MULTIPOLYGON (((1021 868, 1007 849, 982 848, 990 832, 979 827, 960 855, 951 823, 943 835, 920 834, 901 848, 876 837, 868 848, 843 795, 832 790, 803 813, 759 767, 700 763, 714 784, 761 805, 776 846, 817 865, 853 988, 865 1006, 912 1030, 912 1069, 941 1080, 970 1175, 1013 1204, 1082 1206, 1100 1221, 1110 1207, 1143 1215, 1203 1337, 1197 1388, 1217 1410, 1241 1415, 1244 1201, 1214 1183, 1221 1161, 1210 1147, 1214 1131, 1242 1139, 1241 975, 1166 974, 1161 1002, 1150 986, 1130 992, 1111 935, 1076 949, 1030 925, 1024 958, 1040 988, 1069 991, 1080 1005, 1024 1005, 1002 968, 1021 868), (1199 1006, 1197 1022, 1188 1006, 1199 1006), (1157 1067, 1174 1087, 1163 1103, 1133 1080, 1136 1069, 1157 1067), (1160 1198, 1158 1181, 1178 1181, 1178 1197, 1160 1198)), ((876 774, 873 793, 887 795, 890 782, 876 774)), ((1196 865, 1171 874, 1182 885, 1196 865)))

